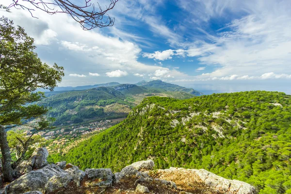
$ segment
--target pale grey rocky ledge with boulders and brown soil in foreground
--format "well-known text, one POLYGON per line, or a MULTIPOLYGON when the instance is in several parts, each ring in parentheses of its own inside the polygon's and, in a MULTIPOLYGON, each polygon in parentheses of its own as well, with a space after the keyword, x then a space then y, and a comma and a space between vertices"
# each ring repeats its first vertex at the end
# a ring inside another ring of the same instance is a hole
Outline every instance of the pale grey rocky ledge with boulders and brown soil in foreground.
POLYGON ((80 170, 70 163, 48 164, 38 148, 17 170, 22 176, 0 194, 255 194, 254 187, 204 169, 153 170, 151 160, 134 162, 113 174, 109 168, 80 170))

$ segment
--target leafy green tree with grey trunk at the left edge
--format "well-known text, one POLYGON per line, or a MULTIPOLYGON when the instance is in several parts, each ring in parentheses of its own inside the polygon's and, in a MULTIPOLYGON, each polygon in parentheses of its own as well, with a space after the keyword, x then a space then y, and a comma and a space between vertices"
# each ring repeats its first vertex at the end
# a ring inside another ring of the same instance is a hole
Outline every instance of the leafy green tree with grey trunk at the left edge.
POLYGON ((53 90, 64 76, 64 68, 41 62, 34 52, 33 39, 8 18, 0 18, 0 148, 4 179, 16 176, 11 166, 11 153, 5 128, 23 125, 23 119, 39 118, 37 129, 48 129, 49 121, 42 118, 47 108, 27 104, 44 97, 38 88, 53 90))

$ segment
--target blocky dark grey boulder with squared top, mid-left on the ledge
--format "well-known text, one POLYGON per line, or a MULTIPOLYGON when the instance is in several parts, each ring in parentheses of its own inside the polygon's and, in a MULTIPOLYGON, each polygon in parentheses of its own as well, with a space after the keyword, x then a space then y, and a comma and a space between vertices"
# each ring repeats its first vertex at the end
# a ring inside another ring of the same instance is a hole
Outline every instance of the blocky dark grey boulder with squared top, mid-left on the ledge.
POLYGON ((89 179, 85 182, 86 187, 98 186, 106 188, 112 186, 114 175, 109 168, 86 169, 85 174, 89 179))

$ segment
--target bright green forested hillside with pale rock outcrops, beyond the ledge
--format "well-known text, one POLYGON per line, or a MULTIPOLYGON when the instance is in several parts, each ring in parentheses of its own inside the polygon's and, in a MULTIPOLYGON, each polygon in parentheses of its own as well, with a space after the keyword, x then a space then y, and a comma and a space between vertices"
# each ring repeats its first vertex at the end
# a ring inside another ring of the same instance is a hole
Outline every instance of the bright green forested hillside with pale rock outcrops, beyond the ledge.
POLYGON ((290 194, 291 96, 253 91, 148 97, 121 124, 65 156, 82 169, 115 171, 146 159, 156 168, 204 168, 248 182, 260 194, 290 194))

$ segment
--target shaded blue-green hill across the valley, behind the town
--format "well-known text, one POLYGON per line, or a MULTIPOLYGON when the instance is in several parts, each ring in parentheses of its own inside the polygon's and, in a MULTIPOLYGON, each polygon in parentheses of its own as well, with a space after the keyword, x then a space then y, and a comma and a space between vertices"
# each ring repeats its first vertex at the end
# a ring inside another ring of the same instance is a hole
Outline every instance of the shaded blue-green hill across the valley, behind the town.
MULTIPOLYGON (((107 105, 118 103, 119 107, 133 107, 125 100, 126 95, 112 87, 96 87, 89 90, 52 92, 53 96, 38 102, 39 105, 51 107, 49 117, 56 118, 54 125, 81 123, 90 119, 124 117, 127 112, 108 112, 107 105)), ((47 94, 47 93, 46 93, 47 94)))

